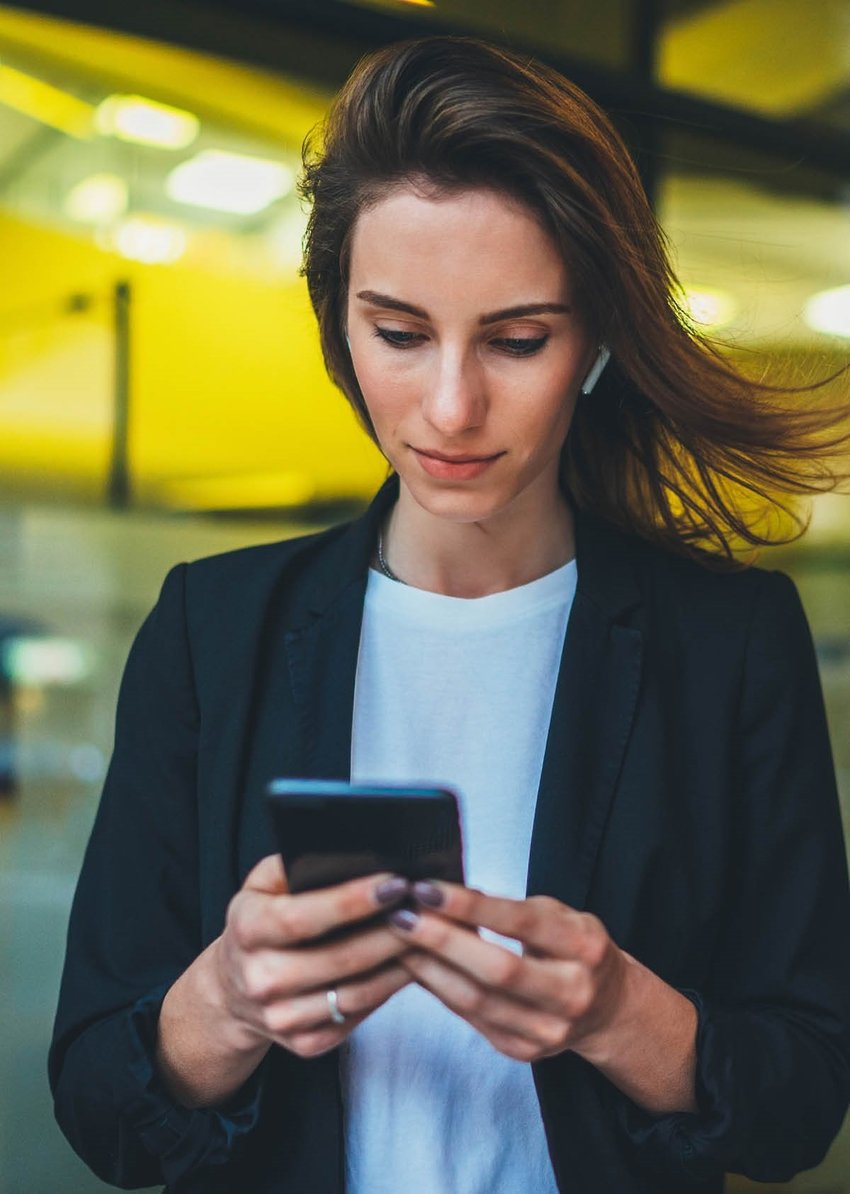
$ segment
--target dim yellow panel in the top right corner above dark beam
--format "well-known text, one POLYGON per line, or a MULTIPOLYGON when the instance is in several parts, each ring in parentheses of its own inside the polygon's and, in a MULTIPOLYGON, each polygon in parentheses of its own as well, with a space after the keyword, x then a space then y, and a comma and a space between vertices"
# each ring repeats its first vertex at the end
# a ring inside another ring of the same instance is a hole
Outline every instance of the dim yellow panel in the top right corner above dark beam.
POLYGON ((660 10, 663 85, 850 129, 850 0, 663 0, 660 10))

